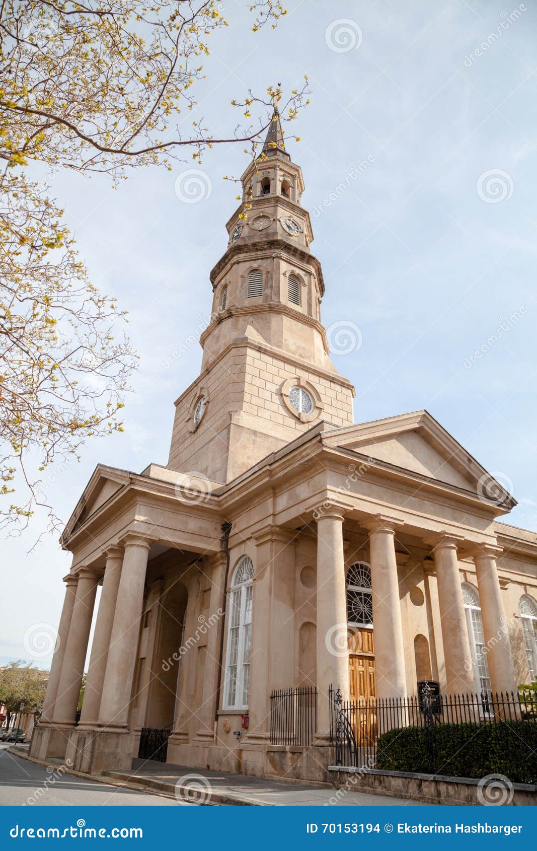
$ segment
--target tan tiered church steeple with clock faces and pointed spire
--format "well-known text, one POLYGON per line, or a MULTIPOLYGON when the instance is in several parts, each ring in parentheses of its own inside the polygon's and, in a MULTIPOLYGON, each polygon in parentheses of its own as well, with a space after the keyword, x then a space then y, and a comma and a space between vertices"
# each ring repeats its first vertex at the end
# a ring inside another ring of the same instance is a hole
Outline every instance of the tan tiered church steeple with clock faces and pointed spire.
POLYGON ((354 388, 331 363, 321 323, 323 271, 311 254, 300 166, 275 107, 242 178, 228 245, 210 273, 202 372, 176 404, 169 467, 227 483, 301 431, 353 422, 354 388))

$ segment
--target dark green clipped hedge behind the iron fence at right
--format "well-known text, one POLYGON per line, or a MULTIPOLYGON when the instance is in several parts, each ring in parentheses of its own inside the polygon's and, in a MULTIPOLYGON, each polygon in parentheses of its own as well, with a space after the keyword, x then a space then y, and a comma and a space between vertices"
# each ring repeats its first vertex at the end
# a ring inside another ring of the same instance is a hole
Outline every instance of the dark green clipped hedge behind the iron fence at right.
POLYGON ((484 777, 506 774, 513 783, 537 783, 537 723, 437 724, 431 728, 432 760, 422 727, 389 730, 379 736, 377 768, 484 777))

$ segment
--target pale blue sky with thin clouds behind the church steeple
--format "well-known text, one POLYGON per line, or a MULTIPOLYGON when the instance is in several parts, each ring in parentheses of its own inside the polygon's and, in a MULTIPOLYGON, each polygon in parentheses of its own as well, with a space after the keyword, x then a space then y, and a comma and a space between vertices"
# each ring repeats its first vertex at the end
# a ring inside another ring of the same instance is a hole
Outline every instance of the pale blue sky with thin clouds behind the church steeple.
MULTIPOLYGON (((212 40, 198 116, 230 134, 233 98, 280 81, 288 91, 309 75, 311 105, 293 126, 301 142, 288 151, 303 170, 302 203, 323 210, 312 217, 323 323, 351 322, 362 334, 359 351, 333 356, 356 385, 355 420, 427 408, 510 487, 518 506, 509 522, 535 528, 534 0, 287 8, 277 31, 253 36, 248 4, 225 3, 230 27, 212 40)), ((172 356, 209 316, 209 271, 236 206, 222 175, 247 162, 240 145, 209 151, 201 168, 211 191, 198 203, 174 191, 190 159, 171 174, 139 171, 116 190, 106 176, 54 178, 91 277, 129 311, 140 354, 123 435, 90 443, 80 464, 52 474, 49 496, 65 519, 97 463, 166 463, 174 399, 197 376, 201 349, 172 356)), ((3 595, 3 660, 29 659, 26 630, 60 617, 71 557, 55 536, 28 553, 43 522, 3 543, 13 589, 3 595)))

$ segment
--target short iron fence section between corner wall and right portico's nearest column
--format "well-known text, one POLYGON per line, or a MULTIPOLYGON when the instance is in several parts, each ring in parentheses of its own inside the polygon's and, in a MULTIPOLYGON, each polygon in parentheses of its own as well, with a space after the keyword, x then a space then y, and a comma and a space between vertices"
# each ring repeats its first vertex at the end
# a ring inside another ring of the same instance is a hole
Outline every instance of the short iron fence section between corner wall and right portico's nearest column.
POLYGON ((271 745, 311 745, 317 728, 317 687, 271 692, 271 745))

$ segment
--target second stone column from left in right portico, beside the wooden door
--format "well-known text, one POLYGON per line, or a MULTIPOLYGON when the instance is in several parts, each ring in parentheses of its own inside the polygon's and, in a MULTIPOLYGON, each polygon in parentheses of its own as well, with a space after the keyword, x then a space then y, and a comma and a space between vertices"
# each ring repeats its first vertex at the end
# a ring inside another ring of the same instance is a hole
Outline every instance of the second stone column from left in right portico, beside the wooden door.
POLYGON ((378 515, 365 525, 369 530, 377 696, 406 697, 403 622, 394 540, 400 524, 378 515))

